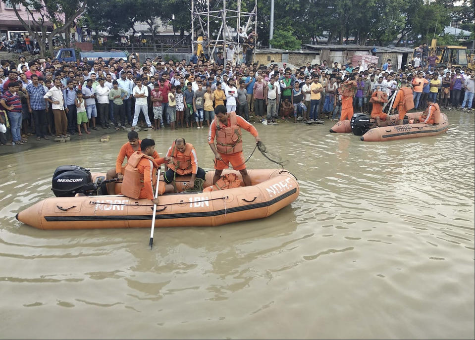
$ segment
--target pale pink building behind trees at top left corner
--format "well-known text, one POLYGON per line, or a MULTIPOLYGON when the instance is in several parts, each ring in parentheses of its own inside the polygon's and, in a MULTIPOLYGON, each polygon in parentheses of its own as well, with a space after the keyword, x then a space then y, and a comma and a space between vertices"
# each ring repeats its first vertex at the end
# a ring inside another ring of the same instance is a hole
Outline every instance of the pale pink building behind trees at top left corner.
MULTIPOLYGON (((30 13, 25 9, 23 6, 19 6, 18 13, 23 20, 27 23, 31 23, 33 25, 33 21, 31 18, 30 13)), ((37 13, 33 11, 33 13, 37 13)), ((47 23, 48 26, 53 28, 53 24, 51 22, 47 23)), ((37 28, 39 31, 39 29, 37 28)), ((10 1, 0 1, 0 37, 6 37, 7 39, 15 39, 16 37, 21 37, 24 34, 28 34, 25 31, 25 28, 21 24, 20 20, 16 17, 16 14, 11 6, 10 1)))

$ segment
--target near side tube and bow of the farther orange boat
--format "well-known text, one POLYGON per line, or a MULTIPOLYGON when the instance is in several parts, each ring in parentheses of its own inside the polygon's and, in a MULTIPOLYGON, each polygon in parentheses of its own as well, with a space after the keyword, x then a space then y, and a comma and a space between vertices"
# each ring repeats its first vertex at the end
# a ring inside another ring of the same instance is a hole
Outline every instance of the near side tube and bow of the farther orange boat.
MULTIPOLYGON (((422 112, 408 113, 411 119, 418 117, 422 112)), ((366 134, 361 136, 364 142, 384 142, 395 141, 406 138, 417 138, 426 136, 435 136, 446 132, 449 128, 449 120, 445 113, 440 112, 434 116, 435 124, 404 124, 379 127, 370 129, 366 134)))

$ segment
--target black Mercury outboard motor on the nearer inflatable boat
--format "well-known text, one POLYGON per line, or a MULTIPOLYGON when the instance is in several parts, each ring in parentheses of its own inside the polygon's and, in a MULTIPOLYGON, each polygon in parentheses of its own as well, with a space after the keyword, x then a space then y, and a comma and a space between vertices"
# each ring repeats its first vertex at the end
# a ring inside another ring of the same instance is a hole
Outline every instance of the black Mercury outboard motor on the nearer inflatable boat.
POLYGON ((77 165, 63 165, 54 171, 51 190, 56 197, 73 197, 78 193, 88 194, 94 187, 89 169, 77 165))

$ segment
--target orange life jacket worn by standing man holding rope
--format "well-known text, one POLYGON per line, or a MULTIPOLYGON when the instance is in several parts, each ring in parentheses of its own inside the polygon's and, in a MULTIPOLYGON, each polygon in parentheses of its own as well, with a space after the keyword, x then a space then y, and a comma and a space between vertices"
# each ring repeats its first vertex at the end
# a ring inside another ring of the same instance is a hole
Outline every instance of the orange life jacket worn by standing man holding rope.
POLYGON ((236 112, 228 112, 229 126, 223 126, 217 116, 216 123, 216 150, 219 153, 236 153, 242 151, 241 128, 237 125, 236 112))

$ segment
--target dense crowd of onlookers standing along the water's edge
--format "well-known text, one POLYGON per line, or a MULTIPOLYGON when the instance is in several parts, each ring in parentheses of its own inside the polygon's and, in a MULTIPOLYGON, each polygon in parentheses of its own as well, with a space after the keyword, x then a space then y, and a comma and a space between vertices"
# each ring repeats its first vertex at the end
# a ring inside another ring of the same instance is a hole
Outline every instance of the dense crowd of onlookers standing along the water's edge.
POLYGON ((88 60, 64 63, 37 59, 1 60, 1 144, 23 144, 29 136, 65 138, 90 130, 203 128, 214 118, 214 107, 224 104, 247 120, 277 125, 338 119, 339 87, 348 80, 358 84, 355 112, 370 112, 369 98, 376 90, 394 93, 401 82, 413 85, 416 108, 433 97, 441 107, 473 110, 474 72, 466 67, 430 67, 428 63, 393 70, 383 65, 310 62, 297 68, 271 64, 237 63, 226 53, 207 60, 88 60), (229 58, 229 59, 228 59, 229 58), (421 80, 422 79, 422 80, 421 80))

